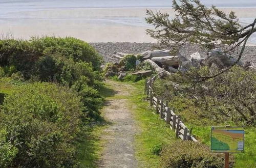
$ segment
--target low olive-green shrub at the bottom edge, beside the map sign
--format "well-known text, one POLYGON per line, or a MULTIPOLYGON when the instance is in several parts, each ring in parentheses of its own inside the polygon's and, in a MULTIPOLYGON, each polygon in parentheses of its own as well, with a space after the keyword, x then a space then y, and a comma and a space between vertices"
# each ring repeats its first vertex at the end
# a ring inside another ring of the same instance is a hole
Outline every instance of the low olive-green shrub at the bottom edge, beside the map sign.
MULTIPOLYGON (((163 147, 160 167, 224 167, 225 157, 220 153, 210 153, 209 147, 191 141, 177 141, 163 147)), ((233 158, 230 157, 230 167, 233 158)))

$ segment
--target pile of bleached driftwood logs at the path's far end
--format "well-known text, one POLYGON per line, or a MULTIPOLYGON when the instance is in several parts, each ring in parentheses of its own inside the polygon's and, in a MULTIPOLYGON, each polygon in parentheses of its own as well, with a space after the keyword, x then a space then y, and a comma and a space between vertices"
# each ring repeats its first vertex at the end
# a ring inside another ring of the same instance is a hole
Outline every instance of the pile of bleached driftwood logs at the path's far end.
MULTIPOLYGON (((122 59, 126 53, 116 52, 113 57, 122 59)), ((191 67, 199 67, 200 65, 216 65, 220 69, 231 66, 236 59, 230 55, 222 52, 221 48, 216 48, 208 53, 207 58, 201 58, 199 52, 195 52, 191 55, 181 55, 177 53, 175 55, 170 53, 170 50, 148 50, 140 55, 140 60, 136 62, 150 64, 158 74, 169 75, 171 73, 186 72, 191 67)), ((241 65, 241 63, 239 63, 241 65)))

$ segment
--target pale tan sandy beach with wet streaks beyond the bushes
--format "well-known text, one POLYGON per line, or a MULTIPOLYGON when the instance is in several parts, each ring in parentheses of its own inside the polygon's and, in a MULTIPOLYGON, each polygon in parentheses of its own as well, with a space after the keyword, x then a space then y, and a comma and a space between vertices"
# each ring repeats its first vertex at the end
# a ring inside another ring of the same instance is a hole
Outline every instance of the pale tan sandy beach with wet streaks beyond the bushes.
MULTIPOLYGON (((151 8, 174 16, 170 8, 151 8)), ((9 12, 0 18, 1 34, 14 38, 72 36, 87 42, 156 42, 146 35, 152 26, 144 21, 146 8, 74 8, 9 12)), ((256 8, 223 8, 234 11, 242 24, 251 23, 256 8)), ((249 43, 256 44, 256 36, 249 43), (254 42, 255 41, 255 42, 254 42)))

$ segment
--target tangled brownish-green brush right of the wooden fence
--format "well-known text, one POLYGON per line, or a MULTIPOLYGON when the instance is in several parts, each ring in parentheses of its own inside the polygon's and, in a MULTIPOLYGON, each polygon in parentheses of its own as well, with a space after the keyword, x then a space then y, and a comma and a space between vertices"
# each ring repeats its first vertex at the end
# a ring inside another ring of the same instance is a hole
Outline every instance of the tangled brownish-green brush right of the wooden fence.
POLYGON ((154 83, 155 93, 170 100, 170 105, 190 122, 255 124, 255 70, 234 66, 218 77, 198 82, 200 76, 208 76, 214 70, 201 67, 158 79, 154 83))

